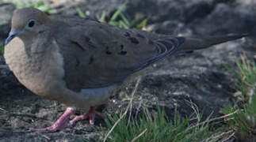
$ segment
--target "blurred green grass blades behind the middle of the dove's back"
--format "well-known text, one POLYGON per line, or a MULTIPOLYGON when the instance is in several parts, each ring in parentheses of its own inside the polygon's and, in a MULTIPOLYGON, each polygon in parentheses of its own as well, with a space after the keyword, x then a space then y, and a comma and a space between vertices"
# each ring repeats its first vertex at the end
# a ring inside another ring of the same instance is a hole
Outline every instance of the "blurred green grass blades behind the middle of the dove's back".
MULTIPOLYGON (((105 11, 101 13, 101 17, 98 17, 97 20, 101 21, 102 23, 111 24, 114 26, 118 26, 120 28, 137 28, 142 29, 147 25, 148 18, 142 18, 142 19, 134 19, 131 20, 126 16, 126 14, 123 12, 125 9, 125 6, 127 5, 127 2, 124 2, 122 6, 120 6, 120 9, 117 9, 115 13, 112 15, 106 15, 105 11)), ((78 7, 75 8, 79 17, 86 17, 86 14, 82 12, 81 9, 78 7)))

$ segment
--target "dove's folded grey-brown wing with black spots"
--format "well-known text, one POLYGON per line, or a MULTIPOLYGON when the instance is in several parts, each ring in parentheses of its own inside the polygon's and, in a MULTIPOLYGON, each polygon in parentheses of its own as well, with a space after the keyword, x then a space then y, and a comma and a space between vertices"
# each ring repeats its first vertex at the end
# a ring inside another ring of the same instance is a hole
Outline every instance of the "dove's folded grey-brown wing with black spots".
POLYGON ((117 28, 97 21, 63 22, 55 35, 65 62, 67 87, 103 88, 173 54, 185 39, 117 28))

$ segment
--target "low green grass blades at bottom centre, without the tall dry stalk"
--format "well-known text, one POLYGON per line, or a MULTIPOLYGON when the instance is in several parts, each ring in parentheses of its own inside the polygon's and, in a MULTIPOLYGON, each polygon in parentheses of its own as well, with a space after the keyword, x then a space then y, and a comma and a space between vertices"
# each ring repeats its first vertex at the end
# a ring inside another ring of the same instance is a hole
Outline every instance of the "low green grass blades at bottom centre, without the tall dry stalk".
POLYGON ((202 123, 195 126, 190 123, 191 118, 181 118, 176 110, 174 112, 174 121, 166 118, 163 110, 158 110, 159 114, 151 117, 151 114, 143 113, 143 116, 135 119, 131 118, 128 124, 127 119, 119 115, 109 116, 106 119, 108 129, 112 129, 113 123, 118 124, 113 132, 106 138, 109 142, 118 141, 137 141, 137 142, 180 142, 180 141, 202 141, 212 136, 213 132, 209 130, 208 123, 202 123))

